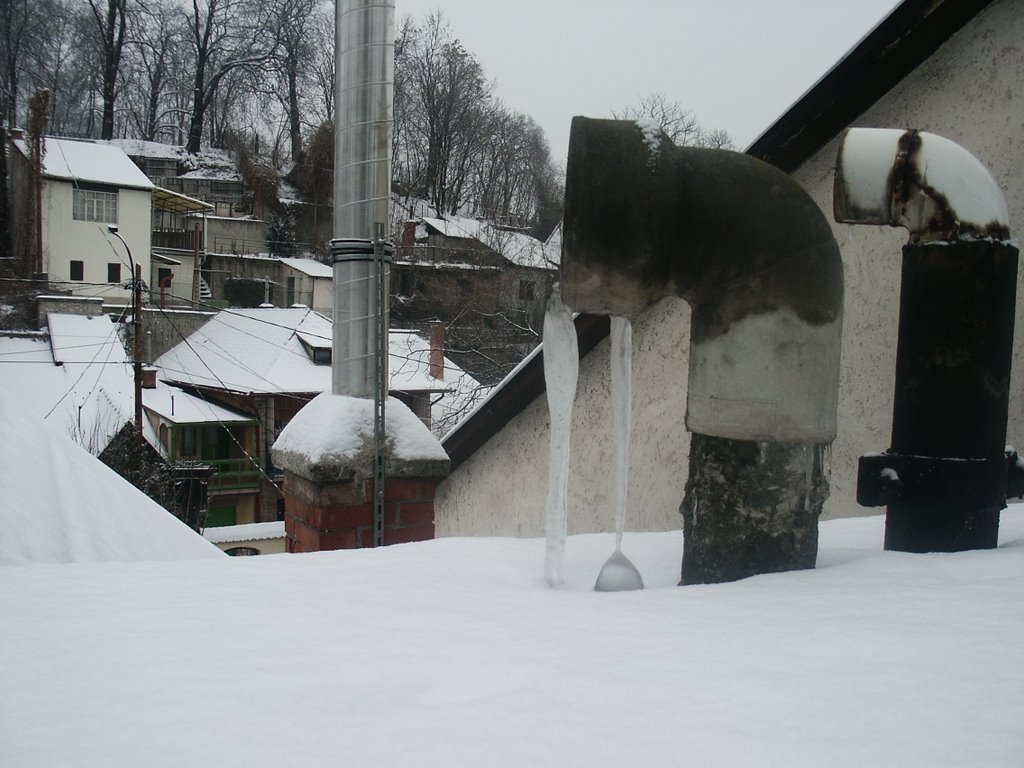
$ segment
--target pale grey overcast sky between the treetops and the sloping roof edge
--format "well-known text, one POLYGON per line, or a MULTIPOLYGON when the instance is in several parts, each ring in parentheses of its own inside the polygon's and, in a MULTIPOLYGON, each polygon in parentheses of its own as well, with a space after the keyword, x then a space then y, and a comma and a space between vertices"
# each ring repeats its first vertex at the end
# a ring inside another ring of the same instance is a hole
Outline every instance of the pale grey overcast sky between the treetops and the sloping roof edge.
POLYGON ((496 95, 536 120, 564 165, 573 115, 652 91, 745 148, 896 0, 395 0, 439 9, 496 95))

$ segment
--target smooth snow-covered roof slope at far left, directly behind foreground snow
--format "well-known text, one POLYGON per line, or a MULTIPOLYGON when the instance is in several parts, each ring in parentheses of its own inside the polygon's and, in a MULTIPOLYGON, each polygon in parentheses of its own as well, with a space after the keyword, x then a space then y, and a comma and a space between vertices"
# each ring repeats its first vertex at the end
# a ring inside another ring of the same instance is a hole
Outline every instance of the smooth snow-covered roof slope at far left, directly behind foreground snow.
POLYGON ((0 565, 185 560, 220 550, 71 438, 31 416, 0 379, 0 565))

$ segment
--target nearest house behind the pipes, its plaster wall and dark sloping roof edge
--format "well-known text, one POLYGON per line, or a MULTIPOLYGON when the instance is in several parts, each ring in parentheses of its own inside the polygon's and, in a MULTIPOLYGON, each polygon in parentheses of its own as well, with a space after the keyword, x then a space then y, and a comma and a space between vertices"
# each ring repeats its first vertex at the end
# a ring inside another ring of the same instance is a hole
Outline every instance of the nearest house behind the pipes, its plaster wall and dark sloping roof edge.
MULTIPOLYGON (((916 128, 945 136, 989 169, 1011 231, 1024 226, 1019 73, 1021 0, 904 0, 746 150, 791 174, 833 222, 835 166, 847 127, 916 128)), ((741 217, 735 219, 737 226, 741 217)), ((890 444, 904 230, 831 223, 845 276, 838 434, 825 517, 873 514, 856 501, 857 462, 890 444)), ((1024 328, 1018 278, 1016 327, 1024 328)), ((627 520, 680 526, 689 307, 665 299, 633 318, 633 438, 627 520)), ((608 468, 608 319, 575 318, 582 355, 573 411, 571 532, 613 524, 608 468)), ((539 350, 540 351, 540 350, 539 350)), ((1024 442, 1024 334, 1014 341, 1007 439, 1024 442)), ((438 485, 438 536, 543 536, 548 408, 540 353, 525 360, 443 439, 451 474, 438 485)), ((936 418, 941 418, 937 415, 936 418)))

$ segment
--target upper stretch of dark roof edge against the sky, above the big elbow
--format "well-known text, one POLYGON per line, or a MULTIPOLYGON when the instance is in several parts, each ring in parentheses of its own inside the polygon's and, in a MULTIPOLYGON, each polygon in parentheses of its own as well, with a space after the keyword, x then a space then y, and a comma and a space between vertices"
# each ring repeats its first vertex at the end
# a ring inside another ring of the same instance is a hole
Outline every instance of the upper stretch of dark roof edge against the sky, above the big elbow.
POLYGON ((990 2, 904 0, 769 126, 746 154, 793 173, 990 2))

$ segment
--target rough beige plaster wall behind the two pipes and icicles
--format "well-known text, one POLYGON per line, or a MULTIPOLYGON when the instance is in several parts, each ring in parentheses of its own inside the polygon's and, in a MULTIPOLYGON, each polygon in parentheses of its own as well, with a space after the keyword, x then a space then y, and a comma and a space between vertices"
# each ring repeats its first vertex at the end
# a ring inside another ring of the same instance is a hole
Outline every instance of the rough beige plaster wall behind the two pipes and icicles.
MULTIPOLYGON (((1024 226, 1024 2, 996 0, 853 122, 919 128, 964 145, 1001 187, 1014 232, 1024 226)), ((838 139, 794 174, 833 220, 838 139)), ((825 517, 878 514, 856 504, 857 458, 889 446, 901 248, 906 232, 833 224, 843 254, 845 318, 839 429, 825 517)), ((1022 270, 1024 271, 1024 270, 1022 270)), ((1024 289, 1007 440, 1024 445, 1024 289)), ((686 480, 684 426, 689 309, 666 300, 634 318, 633 437, 627 528, 680 527, 686 480)), ((569 530, 613 529, 608 343, 581 366, 573 412, 569 530)), ((936 415, 941 418, 941 415, 936 415)), ((538 398, 446 478, 435 500, 437 536, 544 535, 548 412, 538 398)))

